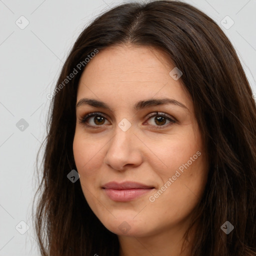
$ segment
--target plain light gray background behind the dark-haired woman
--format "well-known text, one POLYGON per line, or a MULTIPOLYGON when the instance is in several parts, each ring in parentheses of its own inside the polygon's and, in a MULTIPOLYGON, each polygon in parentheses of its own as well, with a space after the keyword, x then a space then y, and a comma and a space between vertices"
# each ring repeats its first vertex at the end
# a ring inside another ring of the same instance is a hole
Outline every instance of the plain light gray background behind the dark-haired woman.
MULTIPOLYGON (((0 0, 0 256, 39 255, 31 202, 38 185, 35 157, 45 136, 46 94, 83 27, 127 1, 0 0), (20 29, 16 25, 29 24, 20 29), (23 131, 16 123, 24 118, 23 131), (24 221, 29 229, 24 230, 24 221), (19 228, 18 228, 19 227, 19 228)), ((256 92, 256 0, 186 0, 214 19, 234 45, 256 92), (234 24, 226 29, 220 22, 234 24), (225 21, 226 20, 226 21, 225 21)))

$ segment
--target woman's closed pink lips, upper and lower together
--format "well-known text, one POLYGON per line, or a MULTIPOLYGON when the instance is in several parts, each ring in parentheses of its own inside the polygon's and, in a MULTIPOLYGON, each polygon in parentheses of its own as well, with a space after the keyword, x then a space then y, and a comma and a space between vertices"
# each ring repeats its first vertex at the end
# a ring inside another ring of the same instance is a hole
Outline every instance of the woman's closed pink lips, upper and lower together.
POLYGON ((137 182, 125 181, 122 183, 108 182, 102 188, 106 195, 113 201, 130 201, 151 191, 154 187, 137 182))

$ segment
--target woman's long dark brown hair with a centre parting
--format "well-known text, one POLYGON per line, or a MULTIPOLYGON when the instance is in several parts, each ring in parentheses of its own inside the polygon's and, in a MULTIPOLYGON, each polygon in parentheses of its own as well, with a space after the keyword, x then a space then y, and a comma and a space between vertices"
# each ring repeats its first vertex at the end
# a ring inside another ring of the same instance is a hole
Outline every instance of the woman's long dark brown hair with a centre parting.
POLYGON ((95 49, 122 43, 162 50, 182 71, 180 81, 193 100, 209 174, 186 232, 199 221, 191 256, 256 255, 256 107, 251 88, 219 26, 195 7, 167 0, 106 11, 81 32, 68 54, 49 109, 42 179, 35 194, 41 255, 118 255, 117 235, 91 211, 80 182, 67 178, 76 169, 75 103, 86 64, 67 84, 63 81, 95 49), (220 228, 225 221, 234 226, 229 234, 220 228))

